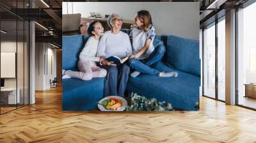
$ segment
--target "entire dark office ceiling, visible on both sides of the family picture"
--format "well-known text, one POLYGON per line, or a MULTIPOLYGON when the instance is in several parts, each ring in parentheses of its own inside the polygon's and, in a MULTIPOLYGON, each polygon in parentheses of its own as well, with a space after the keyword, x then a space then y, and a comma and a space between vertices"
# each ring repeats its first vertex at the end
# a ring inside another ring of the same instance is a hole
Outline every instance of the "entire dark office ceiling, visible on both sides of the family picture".
MULTIPOLYGON (((19 20, 35 20, 38 24, 36 28, 36 41, 48 41, 61 45, 61 16, 63 1, 73 0, 1 0, 0 15, 4 31, 15 33, 16 26, 13 25, 17 18, 19 20), (33 8, 31 8, 33 6, 33 8), (44 27, 47 28, 45 30, 44 27)), ((97 0, 74 0, 74 1, 97 1, 97 0)), ((99 0, 99 1, 119 1, 119 0, 99 0)), ((125 1, 125 0, 124 0, 125 1)), ((126 0, 126 1, 143 1, 143 0, 126 0)), ((200 27, 214 20, 214 15, 220 11, 234 8, 248 0, 148 0, 148 1, 172 1, 172 2, 199 2, 200 3, 200 27), (216 1, 216 2, 214 2, 216 1), (214 3, 214 4, 212 4, 214 3), (210 8, 210 9, 207 9, 210 8)), ((221 15, 219 15, 221 16, 221 15)), ((18 24, 19 25, 19 24, 18 24)), ((18 35, 23 31, 18 26, 18 35)))

